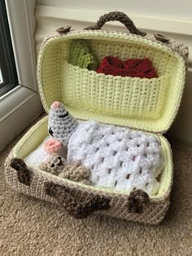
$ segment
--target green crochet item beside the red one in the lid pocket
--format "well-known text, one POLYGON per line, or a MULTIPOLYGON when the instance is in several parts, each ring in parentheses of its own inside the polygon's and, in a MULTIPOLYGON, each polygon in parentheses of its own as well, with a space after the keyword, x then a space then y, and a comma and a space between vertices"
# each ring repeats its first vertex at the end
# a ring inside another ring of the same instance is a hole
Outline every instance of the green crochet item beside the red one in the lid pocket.
POLYGON ((69 63, 80 68, 88 68, 89 70, 96 70, 98 67, 96 57, 91 52, 87 42, 83 39, 72 41, 69 63))

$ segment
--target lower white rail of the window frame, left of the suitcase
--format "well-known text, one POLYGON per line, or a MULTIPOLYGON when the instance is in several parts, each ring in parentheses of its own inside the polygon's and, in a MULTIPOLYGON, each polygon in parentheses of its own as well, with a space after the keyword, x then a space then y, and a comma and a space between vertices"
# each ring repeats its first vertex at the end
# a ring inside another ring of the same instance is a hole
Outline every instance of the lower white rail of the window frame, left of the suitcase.
POLYGON ((17 86, 0 99, 0 150, 42 112, 37 92, 17 86))

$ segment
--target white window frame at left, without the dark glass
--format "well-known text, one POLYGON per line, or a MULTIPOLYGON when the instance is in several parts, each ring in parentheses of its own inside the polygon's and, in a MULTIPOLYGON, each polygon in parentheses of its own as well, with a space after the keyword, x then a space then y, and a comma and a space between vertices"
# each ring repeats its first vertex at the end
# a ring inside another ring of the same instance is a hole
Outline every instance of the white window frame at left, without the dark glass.
POLYGON ((42 113, 37 91, 36 0, 6 0, 19 85, 0 98, 0 150, 42 113))

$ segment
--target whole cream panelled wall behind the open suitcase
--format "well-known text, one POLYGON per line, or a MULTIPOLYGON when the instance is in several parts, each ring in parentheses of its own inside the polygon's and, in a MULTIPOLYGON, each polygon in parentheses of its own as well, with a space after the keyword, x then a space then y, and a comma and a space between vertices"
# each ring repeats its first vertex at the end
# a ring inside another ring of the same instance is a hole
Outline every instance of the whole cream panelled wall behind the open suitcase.
MULTIPOLYGON (((189 46, 188 79, 181 108, 169 133, 192 143, 192 0, 37 0, 37 52, 47 33, 67 25, 72 25, 72 29, 83 29, 108 11, 124 11, 138 29, 164 33, 189 46)), ((124 26, 112 23, 106 29, 124 30, 124 26)))

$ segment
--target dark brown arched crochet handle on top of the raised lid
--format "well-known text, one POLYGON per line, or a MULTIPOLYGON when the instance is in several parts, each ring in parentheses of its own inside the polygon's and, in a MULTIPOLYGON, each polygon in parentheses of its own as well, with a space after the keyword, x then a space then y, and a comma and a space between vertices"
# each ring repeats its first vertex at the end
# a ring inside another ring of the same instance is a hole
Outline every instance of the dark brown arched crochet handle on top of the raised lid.
POLYGON ((130 33, 140 35, 142 37, 146 36, 145 32, 137 29, 133 21, 126 15, 124 12, 121 11, 111 11, 107 14, 101 16, 98 22, 94 26, 90 26, 85 28, 86 30, 98 30, 102 29, 103 25, 106 24, 108 21, 120 21, 124 26, 129 30, 130 33))

